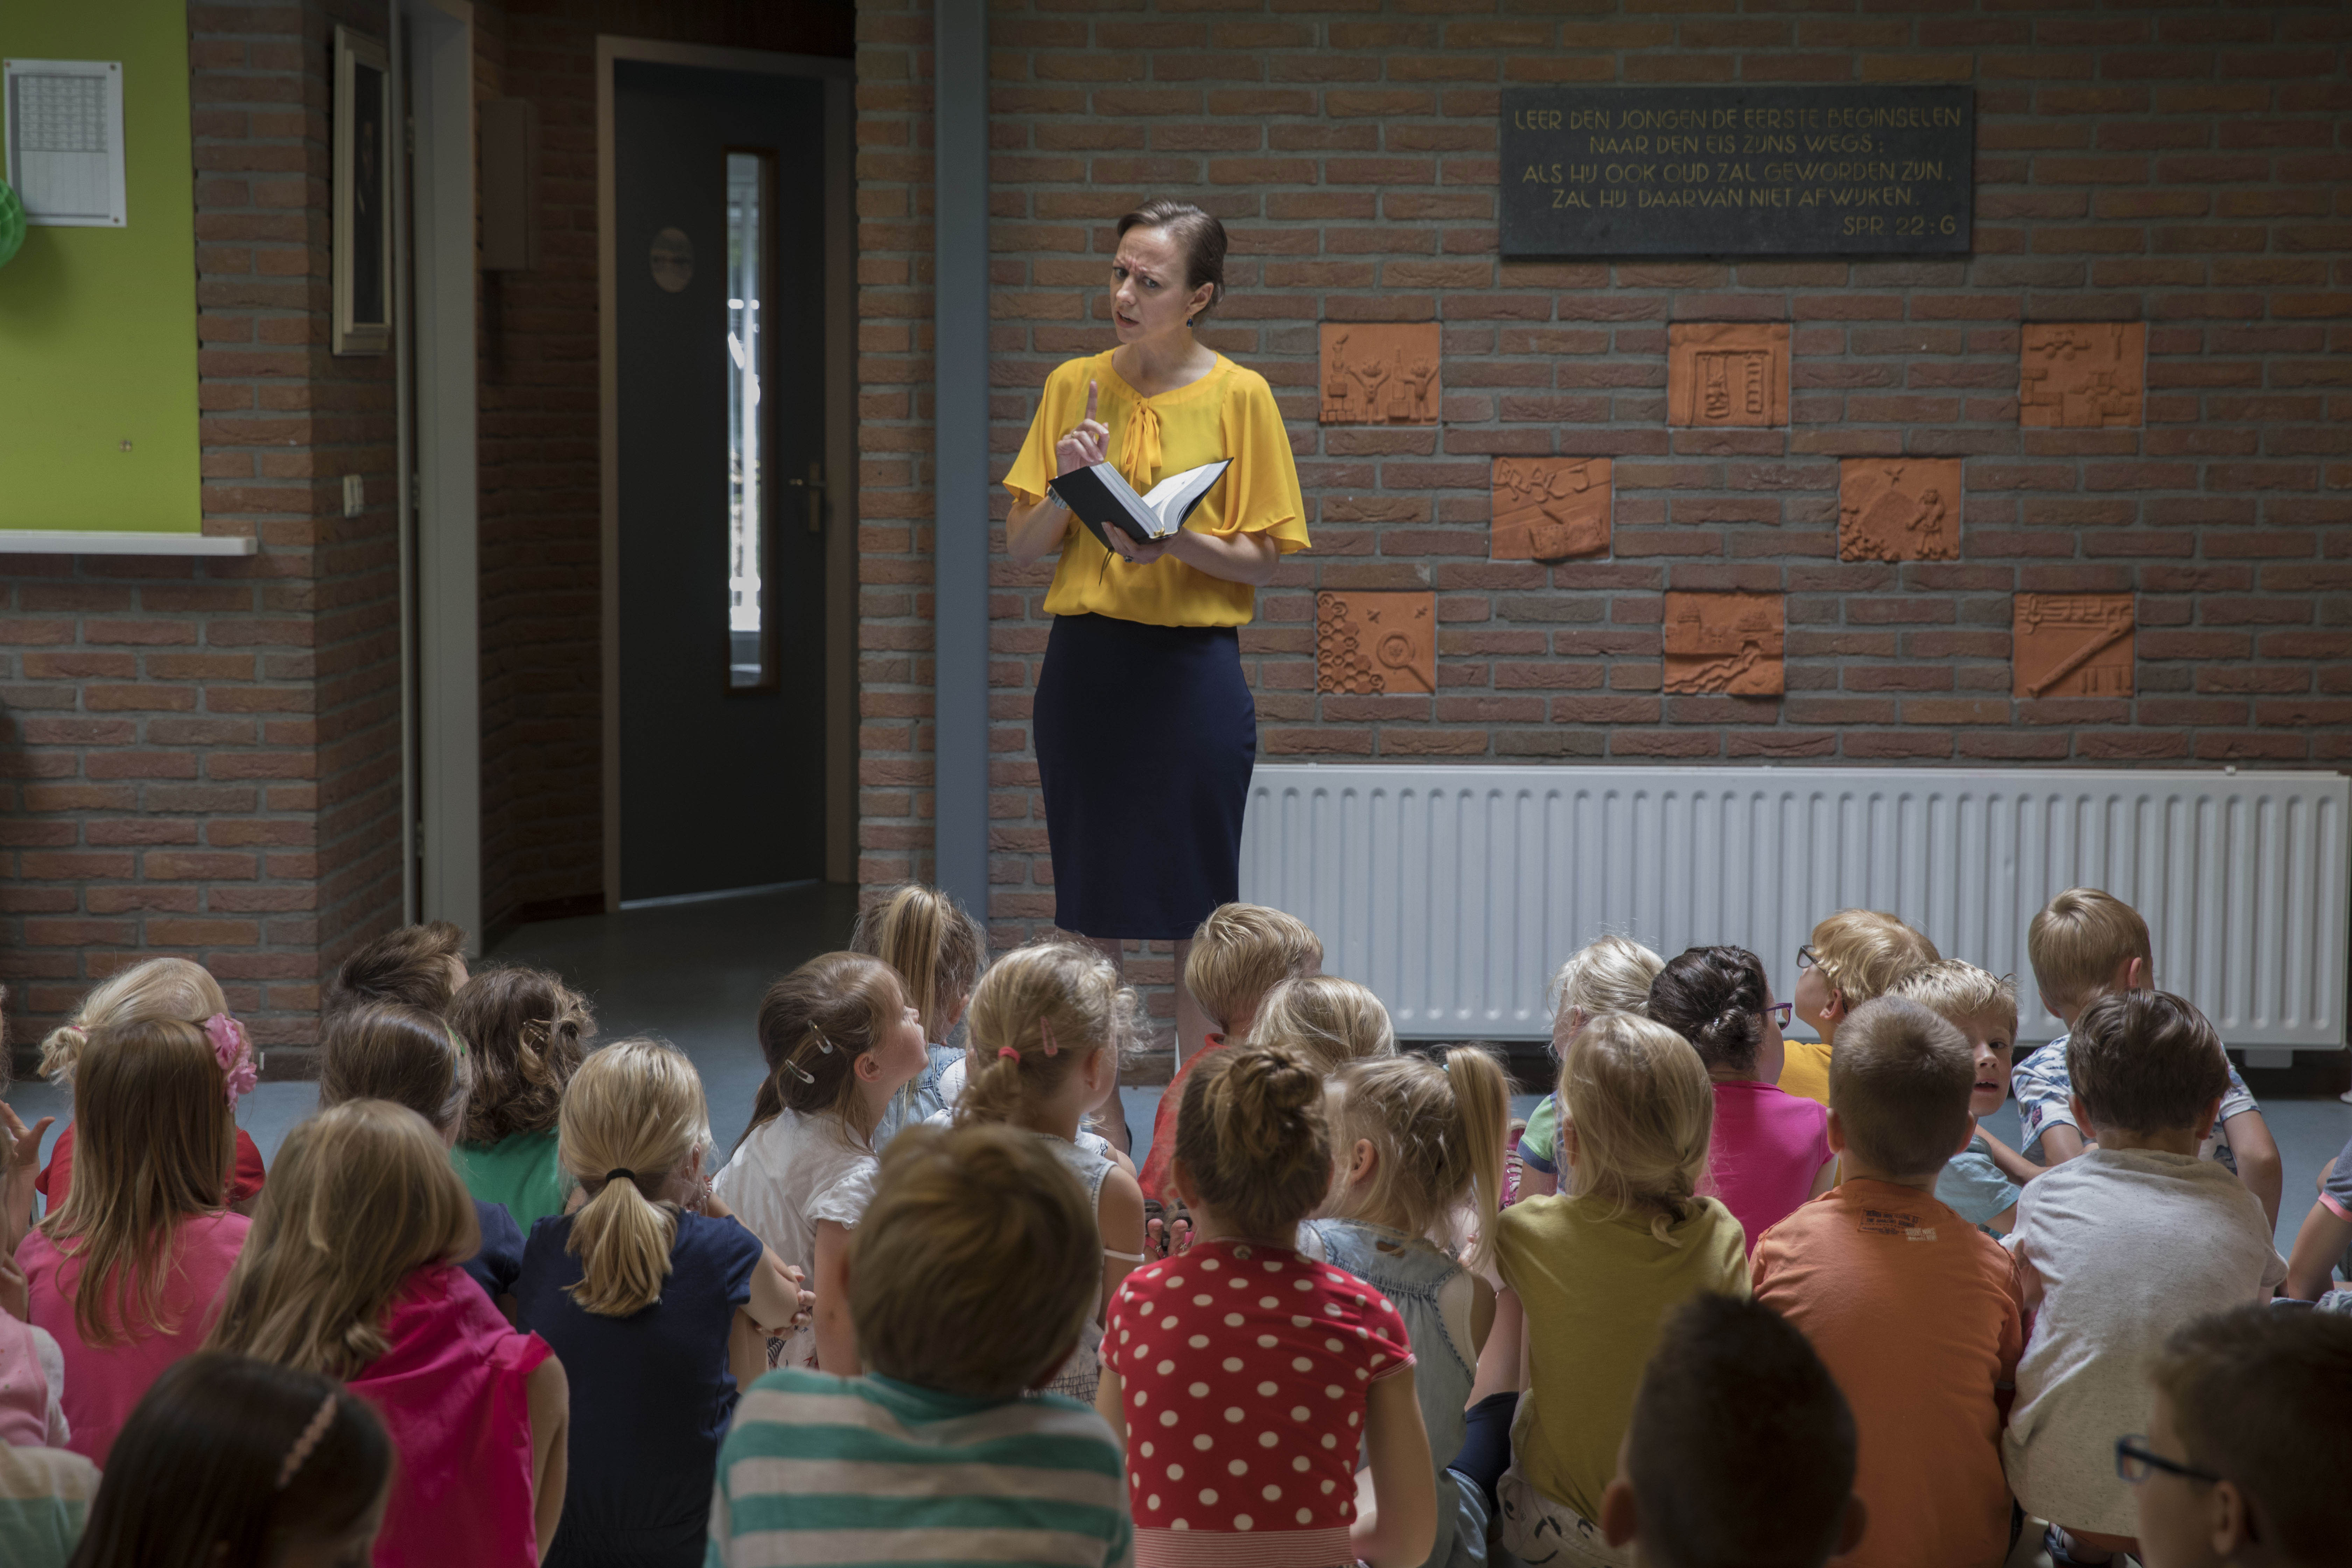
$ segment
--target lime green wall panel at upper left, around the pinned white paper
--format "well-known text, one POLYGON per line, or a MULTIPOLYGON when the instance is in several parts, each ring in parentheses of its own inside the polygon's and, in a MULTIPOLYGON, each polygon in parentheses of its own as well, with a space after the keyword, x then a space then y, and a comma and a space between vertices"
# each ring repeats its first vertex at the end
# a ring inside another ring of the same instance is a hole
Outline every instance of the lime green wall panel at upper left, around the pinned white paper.
POLYGON ((122 61, 129 216, 0 266, 0 529, 198 534, 186 0, 0 5, 0 56, 122 61))

